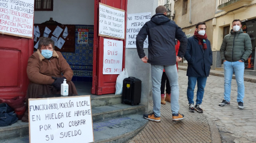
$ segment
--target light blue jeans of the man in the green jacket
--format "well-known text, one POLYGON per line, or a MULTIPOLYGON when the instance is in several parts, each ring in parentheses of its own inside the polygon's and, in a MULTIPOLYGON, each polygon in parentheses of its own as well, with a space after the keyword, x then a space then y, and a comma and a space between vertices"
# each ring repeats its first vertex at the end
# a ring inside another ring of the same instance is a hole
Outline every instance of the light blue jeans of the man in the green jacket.
POLYGON ((237 102, 243 102, 243 97, 245 97, 245 84, 243 83, 243 74, 245 72, 244 62, 224 62, 224 99, 230 101, 231 93, 231 81, 233 72, 236 75, 237 81, 237 102))

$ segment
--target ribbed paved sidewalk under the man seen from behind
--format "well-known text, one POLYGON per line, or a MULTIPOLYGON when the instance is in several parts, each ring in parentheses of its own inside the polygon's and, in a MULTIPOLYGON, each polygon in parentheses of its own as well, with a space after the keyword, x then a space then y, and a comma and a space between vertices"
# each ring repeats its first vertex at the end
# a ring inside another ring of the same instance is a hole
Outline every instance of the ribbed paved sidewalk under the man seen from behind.
POLYGON ((191 114, 184 101, 180 101, 180 112, 185 115, 184 120, 172 121, 170 103, 166 102, 161 105, 161 122, 149 121, 145 129, 128 142, 220 142, 216 126, 204 114, 191 114))

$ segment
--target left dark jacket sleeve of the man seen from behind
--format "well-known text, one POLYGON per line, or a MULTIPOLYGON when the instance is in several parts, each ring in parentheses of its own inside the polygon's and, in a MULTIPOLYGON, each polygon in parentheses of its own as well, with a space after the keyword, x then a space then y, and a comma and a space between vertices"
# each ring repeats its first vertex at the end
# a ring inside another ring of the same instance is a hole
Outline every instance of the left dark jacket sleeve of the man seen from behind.
POLYGON ((136 37, 136 46, 137 46, 137 51, 138 51, 140 59, 142 59, 142 57, 146 56, 146 54, 144 53, 144 50, 143 50, 143 45, 144 45, 144 41, 145 41, 147 35, 148 35, 148 31, 147 31, 147 26, 145 24, 142 27, 142 29, 140 29, 140 32, 136 37))

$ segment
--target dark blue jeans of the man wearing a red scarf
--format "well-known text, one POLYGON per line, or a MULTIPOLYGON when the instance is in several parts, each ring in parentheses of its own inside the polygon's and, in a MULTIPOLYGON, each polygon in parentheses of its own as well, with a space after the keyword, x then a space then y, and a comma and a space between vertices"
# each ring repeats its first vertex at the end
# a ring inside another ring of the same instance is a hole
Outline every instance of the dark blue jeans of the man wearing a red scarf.
POLYGON ((189 104, 194 104, 194 89, 196 81, 198 81, 198 92, 196 92, 196 105, 202 104, 202 98, 204 98, 204 87, 207 77, 189 77, 189 83, 187 86, 187 100, 189 104))

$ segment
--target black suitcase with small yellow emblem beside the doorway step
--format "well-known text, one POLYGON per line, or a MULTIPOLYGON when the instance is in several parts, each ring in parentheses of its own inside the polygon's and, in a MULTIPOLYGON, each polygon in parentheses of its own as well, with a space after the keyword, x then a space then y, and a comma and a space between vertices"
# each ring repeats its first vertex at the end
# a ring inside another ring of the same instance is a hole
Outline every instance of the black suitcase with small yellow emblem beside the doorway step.
POLYGON ((142 96, 142 81, 135 77, 123 79, 122 104, 139 105, 142 96))

